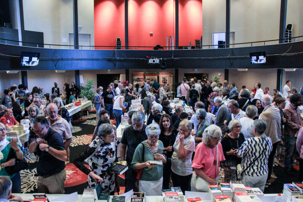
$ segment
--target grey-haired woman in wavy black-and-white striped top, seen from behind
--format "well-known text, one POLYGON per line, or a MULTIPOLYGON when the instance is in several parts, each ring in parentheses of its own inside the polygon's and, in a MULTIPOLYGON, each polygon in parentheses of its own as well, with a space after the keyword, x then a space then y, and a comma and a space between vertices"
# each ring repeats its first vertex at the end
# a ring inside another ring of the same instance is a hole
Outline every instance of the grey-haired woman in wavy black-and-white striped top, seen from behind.
POLYGON ((237 156, 242 157, 241 181, 247 187, 258 187, 263 191, 268 175, 267 163, 272 151, 272 143, 270 137, 264 134, 267 127, 264 120, 255 120, 251 127, 254 137, 245 140, 237 151, 237 156))

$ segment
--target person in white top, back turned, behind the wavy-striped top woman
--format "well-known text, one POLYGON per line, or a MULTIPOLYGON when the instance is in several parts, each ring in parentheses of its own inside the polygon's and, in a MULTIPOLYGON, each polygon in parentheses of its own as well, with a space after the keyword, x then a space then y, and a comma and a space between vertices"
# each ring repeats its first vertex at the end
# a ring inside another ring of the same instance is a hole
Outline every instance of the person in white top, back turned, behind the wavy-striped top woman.
POLYGON ((252 132, 252 123, 254 122, 254 117, 257 115, 258 109, 255 105, 249 105, 246 110, 245 114, 247 117, 242 117, 239 119, 240 124, 242 126, 241 133, 244 135, 245 140, 248 138, 254 137, 254 133, 252 132))

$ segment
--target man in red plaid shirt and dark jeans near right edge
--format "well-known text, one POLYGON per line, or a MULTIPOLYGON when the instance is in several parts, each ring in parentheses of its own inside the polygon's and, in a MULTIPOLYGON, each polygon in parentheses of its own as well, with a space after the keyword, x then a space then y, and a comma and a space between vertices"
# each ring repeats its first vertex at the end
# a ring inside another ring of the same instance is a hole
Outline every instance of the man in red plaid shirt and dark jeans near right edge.
POLYGON ((294 147, 297 140, 295 134, 303 127, 302 117, 298 106, 302 104, 302 96, 300 94, 293 94, 290 98, 290 104, 284 109, 283 115, 286 118, 284 126, 284 137, 286 149, 284 154, 284 172, 290 176, 295 176, 293 172, 297 172, 293 166, 294 163, 294 147))

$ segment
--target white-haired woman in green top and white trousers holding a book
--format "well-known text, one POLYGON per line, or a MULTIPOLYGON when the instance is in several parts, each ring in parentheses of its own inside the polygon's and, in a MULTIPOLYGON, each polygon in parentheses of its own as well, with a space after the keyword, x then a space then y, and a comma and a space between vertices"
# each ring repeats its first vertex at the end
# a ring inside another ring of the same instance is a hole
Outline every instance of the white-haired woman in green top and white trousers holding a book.
POLYGON ((163 181, 163 164, 166 158, 162 155, 163 143, 159 141, 161 133, 158 124, 149 124, 145 133, 147 140, 141 142, 135 150, 132 168, 142 169, 139 178, 139 191, 145 192, 146 196, 160 196, 163 181), (150 161, 162 161, 163 164, 151 164, 150 161))

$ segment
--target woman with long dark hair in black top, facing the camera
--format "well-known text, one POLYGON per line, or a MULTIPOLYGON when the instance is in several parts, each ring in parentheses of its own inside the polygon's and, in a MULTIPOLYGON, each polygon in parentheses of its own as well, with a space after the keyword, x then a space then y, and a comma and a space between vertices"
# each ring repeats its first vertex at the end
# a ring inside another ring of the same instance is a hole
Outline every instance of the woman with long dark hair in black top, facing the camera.
POLYGON ((161 127, 161 133, 159 140, 163 142, 164 150, 166 152, 166 164, 163 166, 163 189, 169 188, 169 180, 171 176, 171 155, 174 152, 172 147, 176 141, 177 131, 172 127, 171 117, 168 114, 161 116, 159 125, 161 127))

